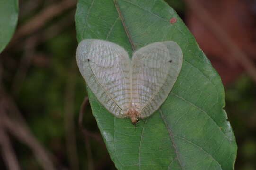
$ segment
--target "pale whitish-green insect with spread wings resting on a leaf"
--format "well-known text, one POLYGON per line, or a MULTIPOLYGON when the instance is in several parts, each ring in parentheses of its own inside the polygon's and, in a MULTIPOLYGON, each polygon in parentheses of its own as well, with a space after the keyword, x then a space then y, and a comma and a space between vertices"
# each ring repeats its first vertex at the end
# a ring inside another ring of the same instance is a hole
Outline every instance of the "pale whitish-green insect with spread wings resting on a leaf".
POLYGON ((118 118, 132 124, 150 116, 165 101, 182 66, 182 50, 176 42, 155 42, 133 53, 97 39, 79 43, 79 70, 98 101, 118 118))

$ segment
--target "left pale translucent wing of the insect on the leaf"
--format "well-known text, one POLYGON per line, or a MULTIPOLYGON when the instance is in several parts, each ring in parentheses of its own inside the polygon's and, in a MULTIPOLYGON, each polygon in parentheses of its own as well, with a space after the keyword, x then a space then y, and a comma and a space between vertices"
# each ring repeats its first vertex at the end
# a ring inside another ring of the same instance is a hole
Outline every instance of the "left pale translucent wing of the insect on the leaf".
POLYGON ((89 39, 79 43, 76 56, 97 99, 115 116, 126 117, 131 101, 128 53, 112 42, 89 39))

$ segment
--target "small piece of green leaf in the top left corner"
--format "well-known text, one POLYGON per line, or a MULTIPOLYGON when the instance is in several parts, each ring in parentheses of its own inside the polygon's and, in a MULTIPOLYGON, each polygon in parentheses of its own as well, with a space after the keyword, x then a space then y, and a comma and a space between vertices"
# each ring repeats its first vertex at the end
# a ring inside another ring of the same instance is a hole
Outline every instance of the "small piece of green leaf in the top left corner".
POLYGON ((0 53, 10 41, 18 21, 18 0, 0 0, 0 53))

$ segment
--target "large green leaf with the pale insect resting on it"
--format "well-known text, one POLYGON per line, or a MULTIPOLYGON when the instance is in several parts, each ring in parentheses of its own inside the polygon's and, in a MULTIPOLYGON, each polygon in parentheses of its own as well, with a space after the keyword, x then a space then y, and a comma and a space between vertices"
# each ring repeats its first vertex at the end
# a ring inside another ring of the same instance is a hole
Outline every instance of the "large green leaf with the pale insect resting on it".
POLYGON ((233 170, 237 146, 223 110, 224 88, 177 13, 163 0, 79 0, 77 39, 103 39, 131 56, 153 42, 177 42, 184 55, 163 105, 136 126, 109 113, 91 93, 93 114, 119 170, 233 170), (170 23, 171 18, 177 21, 170 23), (123 23, 122 23, 123 20, 123 23), (129 40, 130 39, 130 40, 129 40), (133 44, 133 45, 132 45, 133 44))

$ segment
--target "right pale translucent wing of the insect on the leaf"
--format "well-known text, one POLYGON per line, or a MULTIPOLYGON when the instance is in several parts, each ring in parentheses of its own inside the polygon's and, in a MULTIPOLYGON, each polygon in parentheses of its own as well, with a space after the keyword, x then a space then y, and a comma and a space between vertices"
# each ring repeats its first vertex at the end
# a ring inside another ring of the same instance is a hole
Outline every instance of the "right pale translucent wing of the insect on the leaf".
POLYGON ((140 117, 150 116, 170 93, 182 64, 182 51, 176 42, 156 42, 133 54, 132 102, 140 117))

